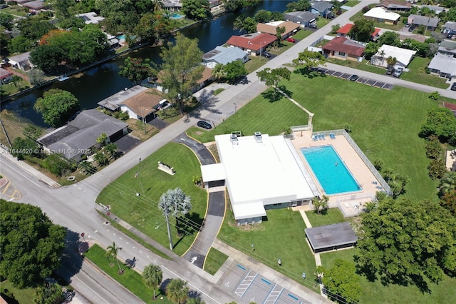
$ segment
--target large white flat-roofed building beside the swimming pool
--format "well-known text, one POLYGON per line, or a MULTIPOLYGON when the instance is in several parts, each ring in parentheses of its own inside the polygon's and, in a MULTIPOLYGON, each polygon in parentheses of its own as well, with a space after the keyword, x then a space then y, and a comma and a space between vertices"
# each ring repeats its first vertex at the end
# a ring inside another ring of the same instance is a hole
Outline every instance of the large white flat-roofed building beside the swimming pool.
POLYGON ((202 166, 202 179, 210 188, 224 178, 238 225, 261 223, 266 209, 314 198, 302 161, 283 136, 224 134, 215 136, 215 142, 221 164, 202 166))

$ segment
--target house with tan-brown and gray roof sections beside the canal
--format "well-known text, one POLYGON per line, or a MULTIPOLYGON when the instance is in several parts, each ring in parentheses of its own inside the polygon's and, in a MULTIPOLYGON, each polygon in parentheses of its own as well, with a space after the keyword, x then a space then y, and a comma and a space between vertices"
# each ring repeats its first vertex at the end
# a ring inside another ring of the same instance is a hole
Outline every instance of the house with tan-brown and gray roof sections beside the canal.
POLYGON ((165 101, 160 91, 138 85, 115 93, 98 102, 98 105, 109 111, 126 111, 130 118, 150 121, 165 101))

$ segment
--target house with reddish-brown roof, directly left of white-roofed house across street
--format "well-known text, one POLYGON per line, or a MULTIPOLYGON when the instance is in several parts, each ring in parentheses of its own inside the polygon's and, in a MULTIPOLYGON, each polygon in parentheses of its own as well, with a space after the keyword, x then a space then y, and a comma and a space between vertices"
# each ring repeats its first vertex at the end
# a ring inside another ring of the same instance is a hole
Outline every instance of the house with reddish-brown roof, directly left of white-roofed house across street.
POLYGON ((331 58, 362 61, 364 46, 346 37, 336 37, 321 47, 323 54, 331 58))

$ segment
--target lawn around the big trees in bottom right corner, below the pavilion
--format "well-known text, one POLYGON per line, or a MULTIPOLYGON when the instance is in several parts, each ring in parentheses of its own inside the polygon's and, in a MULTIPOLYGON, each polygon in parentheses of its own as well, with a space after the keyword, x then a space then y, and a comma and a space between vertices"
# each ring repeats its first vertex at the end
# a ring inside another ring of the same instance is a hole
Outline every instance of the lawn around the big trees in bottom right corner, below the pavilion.
MULTIPOLYGON (((354 262, 353 255, 358 252, 356 248, 338 250, 320 255, 321 264, 331 268, 334 260, 341 258, 354 262)), ((416 286, 383 286, 379 280, 369 282, 366 277, 361 277, 360 303, 450 303, 456 298, 456 278, 445 276, 438 285, 430 283, 430 293, 421 293, 416 286)))

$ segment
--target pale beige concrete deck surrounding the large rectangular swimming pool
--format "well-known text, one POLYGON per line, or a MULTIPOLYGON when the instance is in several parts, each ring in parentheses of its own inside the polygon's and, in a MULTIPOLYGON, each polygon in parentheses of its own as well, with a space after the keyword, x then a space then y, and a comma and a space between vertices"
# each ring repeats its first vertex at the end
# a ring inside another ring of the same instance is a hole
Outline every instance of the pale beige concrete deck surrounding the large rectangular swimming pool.
POLYGON ((326 193, 324 193, 323 189, 320 186, 320 183, 318 183, 318 179, 311 171, 311 168, 307 166, 304 156, 299 150, 300 148, 328 145, 333 146, 338 155, 341 157, 343 163, 345 163, 346 167, 350 170, 353 177, 361 186, 361 191, 326 195, 329 198, 330 208, 340 206, 344 214, 348 216, 356 216, 361 212, 361 206, 363 203, 372 201, 372 199, 375 198, 375 193, 381 190, 377 188, 379 187, 380 183, 377 181, 373 173, 358 156, 358 153, 353 150, 350 143, 346 141, 346 138, 342 135, 336 135, 335 139, 331 139, 329 136, 326 136, 326 139, 314 141, 311 138, 311 131, 299 131, 294 133, 294 139, 291 140, 291 142, 293 143, 293 146, 296 148, 296 150, 299 151, 299 156, 301 157, 301 160, 304 162, 304 164, 306 164, 306 167, 311 173, 312 178, 314 178, 316 186, 318 187, 318 191, 320 191, 321 195, 326 195, 326 193))

